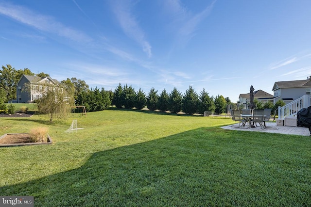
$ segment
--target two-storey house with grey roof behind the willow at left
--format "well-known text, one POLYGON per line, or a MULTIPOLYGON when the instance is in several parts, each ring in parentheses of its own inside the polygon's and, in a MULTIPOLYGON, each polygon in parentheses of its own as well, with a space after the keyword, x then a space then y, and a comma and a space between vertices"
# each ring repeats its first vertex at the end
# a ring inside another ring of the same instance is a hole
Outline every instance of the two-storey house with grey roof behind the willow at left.
POLYGON ((17 83, 17 103, 32 103, 36 99, 42 97, 39 90, 34 90, 42 84, 57 86, 59 85, 59 81, 51 79, 50 77, 41 78, 37 76, 23 75, 17 83), (30 87, 27 87, 27 84, 30 87), (32 90, 27 88, 31 88, 32 90))

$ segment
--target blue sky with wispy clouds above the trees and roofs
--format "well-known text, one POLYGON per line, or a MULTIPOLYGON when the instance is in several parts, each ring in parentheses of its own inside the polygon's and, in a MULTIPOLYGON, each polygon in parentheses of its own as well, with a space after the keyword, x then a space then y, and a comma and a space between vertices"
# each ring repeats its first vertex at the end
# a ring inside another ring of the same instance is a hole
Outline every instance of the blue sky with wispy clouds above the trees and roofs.
POLYGON ((310 0, 0 0, 0 64, 236 102, 311 76, 310 0))

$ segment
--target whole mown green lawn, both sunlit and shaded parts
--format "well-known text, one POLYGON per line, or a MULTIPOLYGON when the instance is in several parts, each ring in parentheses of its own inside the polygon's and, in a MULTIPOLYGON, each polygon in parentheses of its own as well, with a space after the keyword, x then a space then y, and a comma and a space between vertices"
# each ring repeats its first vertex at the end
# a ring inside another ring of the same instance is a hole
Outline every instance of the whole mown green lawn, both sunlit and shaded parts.
POLYGON ((49 127, 52 145, 0 148, 0 195, 35 206, 311 206, 311 139, 225 130, 227 117, 135 110, 1 118, 49 127), (64 133, 73 119, 77 133, 64 133))

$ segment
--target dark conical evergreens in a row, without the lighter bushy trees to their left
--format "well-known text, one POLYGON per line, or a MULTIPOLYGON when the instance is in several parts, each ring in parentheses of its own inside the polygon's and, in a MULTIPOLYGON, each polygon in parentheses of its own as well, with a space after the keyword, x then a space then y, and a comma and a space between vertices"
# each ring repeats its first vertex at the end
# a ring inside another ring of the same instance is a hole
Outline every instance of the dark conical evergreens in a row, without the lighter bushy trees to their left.
POLYGON ((209 96, 205 89, 197 94, 192 86, 189 86, 185 94, 182 94, 177 88, 173 88, 170 93, 163 89, 160 94, 155 88, 151 88, 148 94, 145 94, 140 88, 136 92, 131 85, 126 84, 122 87, 119 83, 112 96, 112 105, 117 108, 142 109, 147 107, 151 111, 160 110, 173 113, 183 111, 187 114, 203 114, 204 111, 223 113, 227 104, 224 96, 218 95, 214 98, 209 96))

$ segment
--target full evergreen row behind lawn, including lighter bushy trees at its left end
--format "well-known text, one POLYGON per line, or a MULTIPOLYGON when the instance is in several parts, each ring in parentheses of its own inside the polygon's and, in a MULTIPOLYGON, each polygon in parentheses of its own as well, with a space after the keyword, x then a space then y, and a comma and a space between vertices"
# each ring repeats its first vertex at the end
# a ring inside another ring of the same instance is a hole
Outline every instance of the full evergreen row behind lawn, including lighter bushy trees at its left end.
POLYGON ((203 114, 204 111, 212 111, 218 114, 225 112, 227 100, 224 96, 218 95, 215 98, 209 96, 205 89, 197 94, 191 86, 184 95, 176 88, 173 88, 171 93, 164 89, 160 95, 155 88, 151 88, 146 95, 140 88, 136 92, 131 85, 122 87, 120 83, 114 92, 105 91, 104 88, 82 91, 76 98, 76 104, 85 106, 86 111, 101 111, 114 105, 117 108, 126 109, 147 107, 151 111, 160 110, 173 113, 183 111, 187 114, 203 114))

